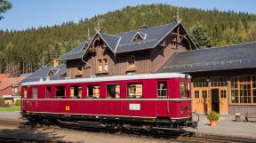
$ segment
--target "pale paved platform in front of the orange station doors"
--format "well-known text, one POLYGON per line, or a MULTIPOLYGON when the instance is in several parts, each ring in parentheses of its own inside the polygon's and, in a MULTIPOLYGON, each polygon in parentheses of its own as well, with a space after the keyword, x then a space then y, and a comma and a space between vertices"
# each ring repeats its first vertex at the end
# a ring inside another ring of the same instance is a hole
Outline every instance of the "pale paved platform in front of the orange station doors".
MULTIPOLYGON (((196 130, 188 129, 188 131, 196 130)), ((234 115, 220 116, 218 125, 216 127, 211 127, 206 116, 200 115, 198 132, 202 134, 256 139, 256 120, 254 120, 254 122, 236 122, 234 115)))

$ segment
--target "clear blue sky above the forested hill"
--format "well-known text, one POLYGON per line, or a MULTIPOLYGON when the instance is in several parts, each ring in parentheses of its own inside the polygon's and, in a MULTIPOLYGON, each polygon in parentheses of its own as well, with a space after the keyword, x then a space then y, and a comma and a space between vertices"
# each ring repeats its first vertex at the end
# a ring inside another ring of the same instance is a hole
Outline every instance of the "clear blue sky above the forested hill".
POLYGON ((256 14, 255 0, 9 0, 13 7, 4 13, 0 29, 24 30, 92 18, 138 4, 172 4, 174 6, 256 14))

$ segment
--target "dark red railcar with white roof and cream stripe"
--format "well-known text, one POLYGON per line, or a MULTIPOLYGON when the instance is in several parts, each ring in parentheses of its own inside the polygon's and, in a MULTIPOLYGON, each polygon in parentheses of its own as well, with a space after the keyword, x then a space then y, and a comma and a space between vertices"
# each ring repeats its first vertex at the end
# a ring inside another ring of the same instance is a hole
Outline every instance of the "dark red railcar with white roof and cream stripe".
POLYGON ((22 83, 21 114, 37 122, 115 128, 196 126, 190 79, 161 73, 22 83))

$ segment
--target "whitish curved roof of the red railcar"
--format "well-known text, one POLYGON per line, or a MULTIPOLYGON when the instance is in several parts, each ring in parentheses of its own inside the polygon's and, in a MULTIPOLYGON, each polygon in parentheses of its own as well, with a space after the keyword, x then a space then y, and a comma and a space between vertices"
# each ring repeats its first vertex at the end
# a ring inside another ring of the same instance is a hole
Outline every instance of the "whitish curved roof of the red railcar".
POLYGON ((90 77, 90 78, 76 78, 76 79, 62 79, 62 80, 50 80, 40 82, 28 82, 22 83, 22 86, 26 85, 39 85, 39 84, 54 84, 54 83, 89 83, 89 82, 107 82, 107 81, 123 81, 123 80, 139 80, 139 79, 156 79, 156 78, 191 78, 186 74, 179 73, 157 73, 157 74, 141 74, 141 75, 115 75, 105 77, 90 77))

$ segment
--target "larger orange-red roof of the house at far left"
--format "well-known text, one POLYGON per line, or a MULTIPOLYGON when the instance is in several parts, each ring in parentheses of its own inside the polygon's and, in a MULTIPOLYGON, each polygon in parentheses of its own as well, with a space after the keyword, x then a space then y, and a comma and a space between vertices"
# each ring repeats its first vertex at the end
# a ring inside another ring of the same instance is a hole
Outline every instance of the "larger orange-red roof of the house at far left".
POLYGON ((17 85, 22 81, 24 77, 10 77, 10 78, 4 78, 0 83, 0 91, 12 86, 17 85))

